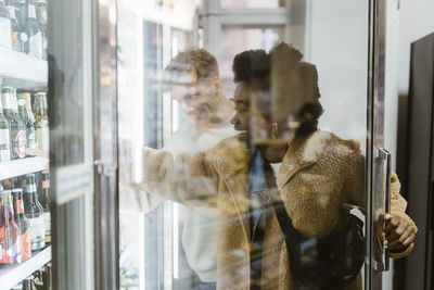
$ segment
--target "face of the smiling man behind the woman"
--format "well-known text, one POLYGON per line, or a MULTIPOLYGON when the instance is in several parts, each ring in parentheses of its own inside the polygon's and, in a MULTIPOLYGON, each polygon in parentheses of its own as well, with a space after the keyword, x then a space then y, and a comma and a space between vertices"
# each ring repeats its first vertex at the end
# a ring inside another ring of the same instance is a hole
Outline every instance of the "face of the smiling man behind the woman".
POLYGON ((218 102, 218 86, 213 79, 201 80, 194 85, 176 85, 171 88, 174 99, 178 100, 181 110, 197 126, 214 123, 218 102))

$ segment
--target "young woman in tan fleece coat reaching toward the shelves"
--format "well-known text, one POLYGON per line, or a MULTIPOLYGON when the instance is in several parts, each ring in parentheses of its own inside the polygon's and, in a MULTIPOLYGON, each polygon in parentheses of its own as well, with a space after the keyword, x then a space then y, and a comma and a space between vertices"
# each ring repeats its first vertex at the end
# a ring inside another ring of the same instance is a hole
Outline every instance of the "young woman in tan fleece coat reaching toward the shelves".
MULTIPOLYGON (((291 272, 273 201, 283 202, 298 232, 318 239, 343 226, 343 203, 363 205, 358 144, 317 129, 322 114, 317 71, 301 60, 285 43, 270 54, 247 51, 235 56, 237 137, 176 161, 168 152, 143 149, 142 188, 219 210, 218 289, 305 287, 291 272)), ((398 257, 411 251, 417 228, 405 214, 394 180, 386 231, 398 257)), ((361 279, 347 288, 361 288, 361 279)))

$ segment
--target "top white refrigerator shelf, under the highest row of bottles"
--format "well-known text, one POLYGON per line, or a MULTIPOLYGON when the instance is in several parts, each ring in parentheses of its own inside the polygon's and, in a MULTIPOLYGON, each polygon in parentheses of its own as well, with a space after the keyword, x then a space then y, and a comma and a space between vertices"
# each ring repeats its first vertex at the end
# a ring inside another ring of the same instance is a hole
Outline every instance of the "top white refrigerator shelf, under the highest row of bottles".
POLYGON ((47 61, 5 48, 0 48, 0 78, 3 79, 3 85, 18 89, 47 87, 47 61))

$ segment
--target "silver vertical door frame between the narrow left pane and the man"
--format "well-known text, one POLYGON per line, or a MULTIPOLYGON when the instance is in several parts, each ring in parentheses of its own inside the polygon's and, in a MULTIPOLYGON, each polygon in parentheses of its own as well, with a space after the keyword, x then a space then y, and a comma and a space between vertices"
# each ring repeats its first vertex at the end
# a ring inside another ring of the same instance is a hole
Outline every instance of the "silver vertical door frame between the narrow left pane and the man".
POLYGON ((119 288, 117 2, 93 1, 95 289, 119 288))

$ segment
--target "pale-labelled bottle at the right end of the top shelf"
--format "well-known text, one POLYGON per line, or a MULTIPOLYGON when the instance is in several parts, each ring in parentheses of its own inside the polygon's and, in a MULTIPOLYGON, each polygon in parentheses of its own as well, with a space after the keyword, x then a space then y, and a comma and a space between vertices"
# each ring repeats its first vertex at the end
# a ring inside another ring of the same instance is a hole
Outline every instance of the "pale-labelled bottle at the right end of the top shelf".
POLYGON ((33 0, 27 3, 25 31, 28 37, 28 54, 36 59, 42 59, 42 33, 36 20, 36 5, 33 0))

